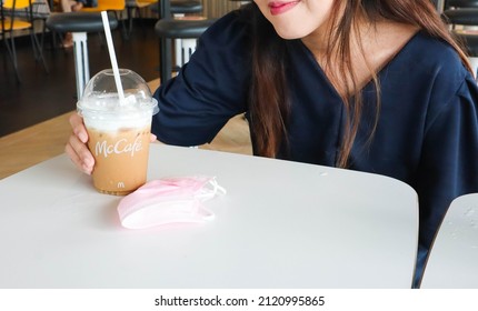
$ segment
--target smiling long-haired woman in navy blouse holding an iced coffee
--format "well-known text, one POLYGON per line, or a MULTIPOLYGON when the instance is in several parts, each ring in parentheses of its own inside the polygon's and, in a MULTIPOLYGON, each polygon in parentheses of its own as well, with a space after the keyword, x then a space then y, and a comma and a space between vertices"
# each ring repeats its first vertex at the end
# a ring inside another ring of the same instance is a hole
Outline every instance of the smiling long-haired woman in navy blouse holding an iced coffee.
MULTIPOLYGON (((155 93, 158 139, 209 142, 246 112, 255 154, 389 175, 420 203, 417 280, 451 200, 478 192, 478 89, 429 0, 255 0, 155 93)), ((91 172, 78 116, 66 148, 91 172)))

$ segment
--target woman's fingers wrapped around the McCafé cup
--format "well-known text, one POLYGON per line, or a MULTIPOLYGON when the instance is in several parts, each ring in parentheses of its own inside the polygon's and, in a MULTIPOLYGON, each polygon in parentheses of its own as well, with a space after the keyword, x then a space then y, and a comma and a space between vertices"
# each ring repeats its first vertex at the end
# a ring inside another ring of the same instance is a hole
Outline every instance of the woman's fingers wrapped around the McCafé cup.
POLYGON ((78 113, 73 113, 70 117, 70 124, 73 133, 64 147, 64 151, 78 169, 87 174, 91 174, 94 167, 94 158, 87 146, 88 132, 84 128, 83 119, 78 113))

